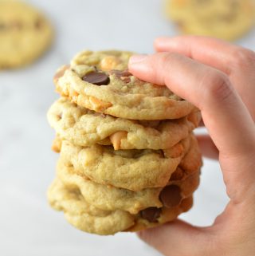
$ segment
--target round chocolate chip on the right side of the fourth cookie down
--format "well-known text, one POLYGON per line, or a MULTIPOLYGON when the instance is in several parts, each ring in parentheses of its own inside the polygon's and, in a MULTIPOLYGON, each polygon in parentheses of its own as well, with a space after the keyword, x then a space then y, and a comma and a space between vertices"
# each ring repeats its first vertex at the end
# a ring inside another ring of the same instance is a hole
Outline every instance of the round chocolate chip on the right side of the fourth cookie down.
POLYGON ((163 188, 160 192, 159 199, 164 207, 176 207, 182 200, 181 189, 176 185, 171 185, 163 188))

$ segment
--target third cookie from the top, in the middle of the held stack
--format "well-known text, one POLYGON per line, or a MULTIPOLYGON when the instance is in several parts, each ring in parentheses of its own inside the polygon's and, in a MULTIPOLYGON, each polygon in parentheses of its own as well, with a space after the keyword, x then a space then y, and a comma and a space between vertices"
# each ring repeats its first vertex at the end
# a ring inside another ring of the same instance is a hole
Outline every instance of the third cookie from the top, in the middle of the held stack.
POLYGON ((101 145, 81 148, 63 141, 61 160, 72 164, 78 175, 85 175, 96 183, 131 191, 165 187, 179 165, 187 171, 197 171, 201 166, 198 144, 189 137, 175 147, 161 151, 115 151, 101 145))

